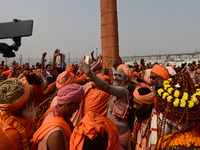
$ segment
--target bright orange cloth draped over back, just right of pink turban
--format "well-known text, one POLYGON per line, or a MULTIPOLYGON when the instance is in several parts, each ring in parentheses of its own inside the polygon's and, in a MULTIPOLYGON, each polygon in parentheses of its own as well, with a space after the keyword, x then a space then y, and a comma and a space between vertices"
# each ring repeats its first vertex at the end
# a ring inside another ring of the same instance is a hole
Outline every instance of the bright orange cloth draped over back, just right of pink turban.
POLYGON ((91 88, 83 98, 82 115, 85 116, 92 111, 95 115, 106 116, 109 97, 110 94, 91 88))

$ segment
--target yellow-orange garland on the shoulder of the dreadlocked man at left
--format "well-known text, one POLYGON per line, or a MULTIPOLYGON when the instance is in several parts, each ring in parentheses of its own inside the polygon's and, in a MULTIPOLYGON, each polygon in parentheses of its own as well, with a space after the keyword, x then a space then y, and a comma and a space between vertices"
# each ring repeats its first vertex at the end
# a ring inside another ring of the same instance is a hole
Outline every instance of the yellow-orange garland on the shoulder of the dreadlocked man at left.
POLYGON ((1 112, 1 120, 5 121, 8 125, 14 127, 18 131, 23 150, 30 150, 29 140, 26 137, 26 129, 6 111, 1 112))

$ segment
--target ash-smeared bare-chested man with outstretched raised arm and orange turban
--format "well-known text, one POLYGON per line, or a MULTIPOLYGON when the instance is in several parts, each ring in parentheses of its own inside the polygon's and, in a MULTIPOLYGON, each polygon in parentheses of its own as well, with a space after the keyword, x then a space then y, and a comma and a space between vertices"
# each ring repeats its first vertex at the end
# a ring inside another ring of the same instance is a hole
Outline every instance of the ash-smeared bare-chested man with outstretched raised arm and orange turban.
POLYGON ((126 65, 119 65, 113 70, 114 82, 113 86, 97 77, 91 71, 90 64, 86 64, 84 60, 79 63, 79 70, 85 73, 100 90, 109 93, 111 96, 108 100, 107 118, 112 120, 119 132, 119 141, 121 148, 128 148, 128 140, 131 135, 128 124, 129 96, 127 81, 131 78, 131 71, 126 65))

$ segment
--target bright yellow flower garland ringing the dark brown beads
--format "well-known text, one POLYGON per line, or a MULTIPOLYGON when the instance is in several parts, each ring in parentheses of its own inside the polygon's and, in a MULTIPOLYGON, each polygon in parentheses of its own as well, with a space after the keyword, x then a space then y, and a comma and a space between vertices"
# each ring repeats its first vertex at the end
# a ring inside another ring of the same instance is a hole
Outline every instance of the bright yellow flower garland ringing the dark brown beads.
MULTIPOLYGON (((159 96, 162 97, 162 99, 167 99, 167 101, 169 103, 172 102, 172 99, 173 99, 173 96, 171 95, 172 92, 174 91, 174 88, 171 87, 170 85, 170 82, 172 81, 172 78, 169 78, 168 80, 165 80, 163 82, 163 85, 164 85, 164 89, 160 88, 157 92, 159 94, 159 96)), ((198 84, 196 84, 195 86, 198 86, 198 84)), ((174 101, 173 101, 173 105, 175 107, 186 107, 186 101, 188 102, 188 105, 187 107, 188 108, 192 108, 194 107, 194 105, 198 105, 199 104, 199 101, 198 99, 196 98, 196 96, 200 96, 200 89, 196 89, 196 93, 193 94, 191 97, 190 97, 190 100, 189 100, 189 96, 188 96, 188 93, 187 92, 184 92, 183 93, 183 96, 181 99, 179 99, 180 97, 180 91, 179 90, 175 90, 174 91, 174 101)))

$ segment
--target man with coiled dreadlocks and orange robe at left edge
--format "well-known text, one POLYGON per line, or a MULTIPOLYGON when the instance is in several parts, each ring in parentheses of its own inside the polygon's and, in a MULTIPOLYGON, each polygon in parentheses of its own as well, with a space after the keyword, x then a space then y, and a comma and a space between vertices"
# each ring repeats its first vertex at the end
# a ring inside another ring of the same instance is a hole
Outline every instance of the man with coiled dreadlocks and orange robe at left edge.
POLYGON ((31 147, 34 133, 34 95, 17 78, 0 84, 0 149, 22 150, 31 147))

